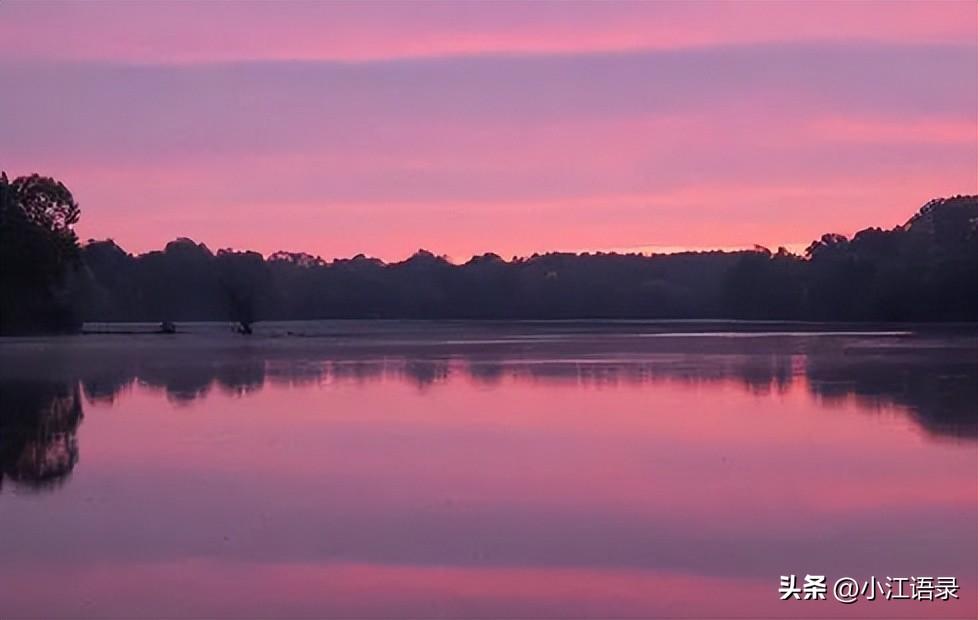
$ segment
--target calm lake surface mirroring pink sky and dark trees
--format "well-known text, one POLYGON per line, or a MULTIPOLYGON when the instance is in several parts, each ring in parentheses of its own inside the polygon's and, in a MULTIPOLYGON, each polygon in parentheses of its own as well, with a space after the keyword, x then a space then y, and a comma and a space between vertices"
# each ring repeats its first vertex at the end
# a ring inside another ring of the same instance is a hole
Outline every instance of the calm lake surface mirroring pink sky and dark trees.
POLYGON ((974 618, 974 335, 706 327, 4 341, 0 617, 974 618))

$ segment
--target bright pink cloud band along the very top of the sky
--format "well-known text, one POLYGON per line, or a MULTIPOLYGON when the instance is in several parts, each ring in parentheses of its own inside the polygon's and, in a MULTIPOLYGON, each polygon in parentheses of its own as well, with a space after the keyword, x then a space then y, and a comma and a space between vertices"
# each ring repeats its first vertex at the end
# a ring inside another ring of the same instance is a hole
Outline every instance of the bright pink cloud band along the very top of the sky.
POLYGON ((967 2, 134 4, 0 7, 0 52, 124 62, 684 49, 798 40, 974 40, 967 2), (43 36, 39 36, 43 33, 43 36), (52 40, 57 45, 51 45, 52 40))

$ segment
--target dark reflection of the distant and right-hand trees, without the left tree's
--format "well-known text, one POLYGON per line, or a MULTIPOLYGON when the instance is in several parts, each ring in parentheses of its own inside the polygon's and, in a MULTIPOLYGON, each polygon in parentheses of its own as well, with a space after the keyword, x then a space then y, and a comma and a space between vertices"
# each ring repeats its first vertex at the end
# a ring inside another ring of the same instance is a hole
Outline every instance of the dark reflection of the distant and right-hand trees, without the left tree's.
MULTIPOLYGON (((353 381, 405 381, 427 389, 462 377, 494 386, 504 379, 581 385, 660 382, 735 382, 745 391, 784 393, 801 383, 825 405, 852 400, 866 411, 899 408, 934 436, 978 439, 978 361, 965 357, 831 355, 657 355, 633 359, 492 359, 384 357, 376 359, 265 359, 223 356, 207 362, 158 361, 79 372, 92 402, 112 402, 134 383, 163 391, 176 404, 212 389, 244 396, 266 383, 302 386, 353 381)), ((4 414, 6 415, 6 414, 4 414)))

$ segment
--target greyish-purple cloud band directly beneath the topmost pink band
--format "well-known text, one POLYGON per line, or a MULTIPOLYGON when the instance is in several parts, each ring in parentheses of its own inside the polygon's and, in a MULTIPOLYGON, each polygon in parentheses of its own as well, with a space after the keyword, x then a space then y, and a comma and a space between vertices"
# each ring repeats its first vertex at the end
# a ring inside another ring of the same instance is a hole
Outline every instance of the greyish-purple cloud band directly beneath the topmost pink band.
POLYGON ((974 46, 779 44, 708 51, 348 65, 0 65, 8 149, 155 157, 344 149, 406 128, 522 131, 699 113, 763 130, 773 115, 974 122, 974 46))

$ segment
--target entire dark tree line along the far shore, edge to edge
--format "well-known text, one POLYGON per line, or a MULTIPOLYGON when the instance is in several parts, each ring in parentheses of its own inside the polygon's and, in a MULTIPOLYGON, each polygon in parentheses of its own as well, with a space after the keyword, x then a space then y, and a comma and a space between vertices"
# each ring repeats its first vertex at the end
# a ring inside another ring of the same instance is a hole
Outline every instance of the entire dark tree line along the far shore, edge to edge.
POLYGON ((133 255, 79 244, 78 204, 32 175, 0 179, 0 333, 82 321, 408 319, 978 320, 978 196, 939 198, 905 224, 784 248, 667 255, 496 254, 453 264, 419 250, 358 255, 211 251, 177 239, 133 255))

